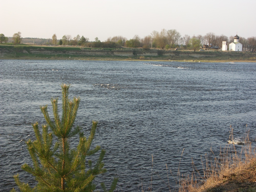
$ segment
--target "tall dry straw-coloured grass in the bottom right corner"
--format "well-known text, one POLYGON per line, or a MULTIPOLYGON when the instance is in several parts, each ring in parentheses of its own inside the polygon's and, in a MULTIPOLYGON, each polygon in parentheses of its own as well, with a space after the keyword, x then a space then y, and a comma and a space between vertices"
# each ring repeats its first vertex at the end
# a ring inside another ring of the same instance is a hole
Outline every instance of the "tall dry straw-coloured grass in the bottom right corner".
MULTIPOLYGON (((230 140, 233 140, 232 128, 230 140)), ((241 151, 236 145, 228 144, 220 150, 218 157, 212 151, 211 156, 206 154, 206 163, 202 161, 204 175, 201 176, 193 166, 193 173, 181 179, 179 192, 256 192, 256 155, 249 131, 244 143, 241 151)))

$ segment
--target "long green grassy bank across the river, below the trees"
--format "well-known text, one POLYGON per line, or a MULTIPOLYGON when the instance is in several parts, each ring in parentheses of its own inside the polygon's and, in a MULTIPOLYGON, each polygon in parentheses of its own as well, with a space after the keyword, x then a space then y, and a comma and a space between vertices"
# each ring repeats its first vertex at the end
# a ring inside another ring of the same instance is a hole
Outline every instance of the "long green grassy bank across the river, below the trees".
POLYGON ((142 48, 82 48, 31 45, 0 45, 0 59, 51 60, 159 60, 192 62, 256 62, 256 54, 232 51, 190 51, 142 48))

